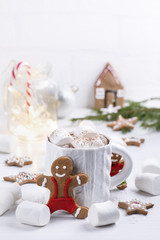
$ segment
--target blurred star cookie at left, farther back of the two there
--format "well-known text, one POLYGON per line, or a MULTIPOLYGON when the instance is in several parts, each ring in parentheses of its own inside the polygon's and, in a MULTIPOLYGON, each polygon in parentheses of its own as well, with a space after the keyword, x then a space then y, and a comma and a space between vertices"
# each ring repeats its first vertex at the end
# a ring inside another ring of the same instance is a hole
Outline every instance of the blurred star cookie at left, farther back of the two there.
POLYGON ((16 157, 12 156, 6 159, 5 163, 8 166, 17 166, 17 167, 23 167, 24 165, 30 165, 32 164, 31 158, 30 157, 16 157))

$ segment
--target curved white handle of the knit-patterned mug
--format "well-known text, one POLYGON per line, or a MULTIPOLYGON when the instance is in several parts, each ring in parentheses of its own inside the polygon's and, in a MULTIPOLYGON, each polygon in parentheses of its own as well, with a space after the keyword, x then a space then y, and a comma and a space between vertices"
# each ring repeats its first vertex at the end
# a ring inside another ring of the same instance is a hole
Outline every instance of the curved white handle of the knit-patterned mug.
POLYGON ((113 188, 122 183, 123 181, 125 181, 127 177, 130 175, 133 168, 132 158, 124 147, 112 143, 112 152, 117 153, 123 157, 124 166, 118 174, 111 177, 110 188, 113 188))

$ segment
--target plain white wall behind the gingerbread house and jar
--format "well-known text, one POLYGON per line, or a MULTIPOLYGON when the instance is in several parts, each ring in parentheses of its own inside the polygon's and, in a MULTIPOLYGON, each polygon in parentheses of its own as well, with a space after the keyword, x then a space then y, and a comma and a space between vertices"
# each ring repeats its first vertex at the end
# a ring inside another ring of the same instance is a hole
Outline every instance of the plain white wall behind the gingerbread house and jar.
POLYGON ((77 84, 92 107, 109 61, 126 98, 160 95, 159 0, 0 0, 0 70, 11 59, 51 62, 54 80, 77 84))

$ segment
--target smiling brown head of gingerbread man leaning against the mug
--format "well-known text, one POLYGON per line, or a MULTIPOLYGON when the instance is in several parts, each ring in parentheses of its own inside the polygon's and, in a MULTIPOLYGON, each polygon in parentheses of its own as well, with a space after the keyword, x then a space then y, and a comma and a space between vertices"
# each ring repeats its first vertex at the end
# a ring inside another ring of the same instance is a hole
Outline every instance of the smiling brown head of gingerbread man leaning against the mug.
POLYGON ((56 180, 68 179, 73 170, 72 160, 68 157, 59 158, 52 163, 51 172, 56 180))

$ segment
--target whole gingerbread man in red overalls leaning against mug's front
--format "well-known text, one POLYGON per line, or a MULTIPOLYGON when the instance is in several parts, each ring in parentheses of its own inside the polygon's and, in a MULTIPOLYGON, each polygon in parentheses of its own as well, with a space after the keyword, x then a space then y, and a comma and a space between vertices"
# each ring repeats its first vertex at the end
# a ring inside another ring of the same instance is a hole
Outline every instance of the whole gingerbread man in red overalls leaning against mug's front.
POLYGON ((71 175, 72 170, 72 159, 62 156, 52 163, 51 173, 53 176, 39 176, 37 184, 50 190, 47 206, 51 213, 65 210, 74 217, 83 219, 88 216, 88 208, 81 207, 76 203, 72 190, 87 183, 88 175, 85 173, 71 175))

